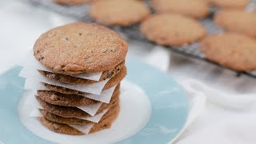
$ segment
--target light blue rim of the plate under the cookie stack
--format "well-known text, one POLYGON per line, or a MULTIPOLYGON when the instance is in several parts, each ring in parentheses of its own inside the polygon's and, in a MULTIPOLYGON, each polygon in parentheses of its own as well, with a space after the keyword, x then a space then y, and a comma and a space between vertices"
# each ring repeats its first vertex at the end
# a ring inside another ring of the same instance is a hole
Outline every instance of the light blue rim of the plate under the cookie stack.
MULTIPOLYGON (((126 79, 145 90, 152 111, 150 120, 142 130, 118 143, 173 142, 182 131, 188 115, 187 99, 182 88, 168 74, 137 59, 128 59, 126 66, 126 79), (145 134, 145 130, 151 131, 145 134)), ((20 70, 22 67, 14 67, 0 75, 0 143, 51 143, 32 134, 19 120, 18 102, 25 82, 24 78, 18 77, 20 70)))

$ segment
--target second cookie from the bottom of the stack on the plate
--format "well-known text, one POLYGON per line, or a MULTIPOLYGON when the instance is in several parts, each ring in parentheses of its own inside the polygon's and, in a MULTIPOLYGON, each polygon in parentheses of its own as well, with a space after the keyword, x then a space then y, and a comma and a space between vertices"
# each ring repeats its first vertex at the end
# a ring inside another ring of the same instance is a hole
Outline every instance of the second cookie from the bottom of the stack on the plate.
MULTIPOLYGON (((112 116, 113 114, 116 114, 117 110, 119 109, 118 106, 119 104, 116 104, 113 107, 111 107, 110 110, 108 110, 106 114, 103 115, 102 120, 112 116)), ((94 123, 94 122, 90 122, 80 118, 63 118, 56 114, 51 114, 46 110, 40 110, 40 112, 44 118, 46 118, 51 122, 58 122, 58 123, 70 124, 70 125, 86 125, 86 124, 94 123)))

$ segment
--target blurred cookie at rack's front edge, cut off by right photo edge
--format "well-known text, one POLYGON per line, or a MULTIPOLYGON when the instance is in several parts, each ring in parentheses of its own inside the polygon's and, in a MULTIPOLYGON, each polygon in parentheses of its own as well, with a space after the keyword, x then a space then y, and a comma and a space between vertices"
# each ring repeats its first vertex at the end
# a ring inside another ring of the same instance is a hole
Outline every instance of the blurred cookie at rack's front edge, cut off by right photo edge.
POLYGON ((256 40, 244 34, 217 34, 200 42, 206 58, 233 70, 256 70, 256 40))

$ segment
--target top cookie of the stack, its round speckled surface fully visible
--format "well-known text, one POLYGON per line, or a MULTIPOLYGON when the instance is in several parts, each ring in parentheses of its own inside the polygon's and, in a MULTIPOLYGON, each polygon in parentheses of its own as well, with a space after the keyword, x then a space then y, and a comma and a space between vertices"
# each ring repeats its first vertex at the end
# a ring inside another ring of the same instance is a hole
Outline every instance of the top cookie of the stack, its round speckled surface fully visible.
POLYGON ((56 73, 81 74, 114 69, 127 50, 126 41, 113 30, 74 22, 42 34, 34 44, 34 57, 56 73))

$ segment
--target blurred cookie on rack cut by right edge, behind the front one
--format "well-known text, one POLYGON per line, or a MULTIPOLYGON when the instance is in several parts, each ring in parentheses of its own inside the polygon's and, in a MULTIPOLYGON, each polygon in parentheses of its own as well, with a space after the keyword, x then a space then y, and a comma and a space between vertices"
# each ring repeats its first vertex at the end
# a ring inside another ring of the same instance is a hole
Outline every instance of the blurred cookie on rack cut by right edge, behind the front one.
POLYGON ((256 38, 256 14, 243 10, 223 10, 214 16, 214 22, 231 32, 247 34, 256 38))

